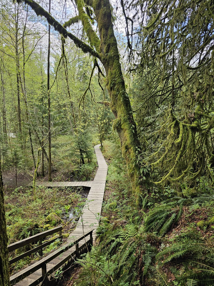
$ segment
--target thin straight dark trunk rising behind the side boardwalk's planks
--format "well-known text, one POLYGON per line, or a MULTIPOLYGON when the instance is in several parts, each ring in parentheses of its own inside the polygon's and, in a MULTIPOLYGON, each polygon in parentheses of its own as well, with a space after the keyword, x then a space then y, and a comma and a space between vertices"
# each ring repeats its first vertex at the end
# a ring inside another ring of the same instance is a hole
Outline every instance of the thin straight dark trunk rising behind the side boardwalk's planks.
MULTIPOLYGON (((49 0, 49 14, 51 13, 51 0, 49 0)), ((48 67, 47 67, 47 88, 48 88, 48 181, 51 177, 51 98, 50 98, 50 41, 51 25, 48 25, 48 67)))

